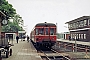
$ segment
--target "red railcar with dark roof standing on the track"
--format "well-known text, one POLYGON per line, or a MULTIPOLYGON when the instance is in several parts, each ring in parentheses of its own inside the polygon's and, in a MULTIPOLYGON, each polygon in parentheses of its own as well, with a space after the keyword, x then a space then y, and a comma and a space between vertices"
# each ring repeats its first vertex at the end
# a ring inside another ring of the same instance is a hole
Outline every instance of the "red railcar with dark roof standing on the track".
POLYGON ((38 23, 31 31, 30 38, 38 47, 52 47, 57 39, 56 29, 54 23, 38 23))

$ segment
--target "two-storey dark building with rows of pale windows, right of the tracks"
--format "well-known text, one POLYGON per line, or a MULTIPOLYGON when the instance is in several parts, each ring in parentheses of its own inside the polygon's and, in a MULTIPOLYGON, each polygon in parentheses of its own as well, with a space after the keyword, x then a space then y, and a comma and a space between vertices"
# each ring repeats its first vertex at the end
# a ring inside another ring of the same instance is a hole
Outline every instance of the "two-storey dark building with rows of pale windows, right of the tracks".
POLYGON ((90 41, 90 16, 82 16, 66 22, 71 40, 90 41))

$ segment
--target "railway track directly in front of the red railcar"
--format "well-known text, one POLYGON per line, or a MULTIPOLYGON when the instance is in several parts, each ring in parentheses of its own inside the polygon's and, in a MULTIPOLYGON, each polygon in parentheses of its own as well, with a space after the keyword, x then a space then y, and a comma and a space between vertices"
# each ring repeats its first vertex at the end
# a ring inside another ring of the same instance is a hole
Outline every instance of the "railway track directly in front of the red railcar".
POLYGON ((64 55, 53 49, 49 51, 38 50, 38 54, 41 56, 42 60, 71 60, 68 55, 64 55))

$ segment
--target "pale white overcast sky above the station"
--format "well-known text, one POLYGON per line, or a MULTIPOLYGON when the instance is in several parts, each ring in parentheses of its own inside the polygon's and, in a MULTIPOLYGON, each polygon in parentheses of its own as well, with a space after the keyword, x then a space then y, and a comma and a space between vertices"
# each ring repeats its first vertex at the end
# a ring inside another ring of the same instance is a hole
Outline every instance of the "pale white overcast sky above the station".
POLYGON ((57 23, 57 32, 67 32, 68 21, 90 16, 90 0, 7 0, 24 20, 27 34, 35 24, 57 23))

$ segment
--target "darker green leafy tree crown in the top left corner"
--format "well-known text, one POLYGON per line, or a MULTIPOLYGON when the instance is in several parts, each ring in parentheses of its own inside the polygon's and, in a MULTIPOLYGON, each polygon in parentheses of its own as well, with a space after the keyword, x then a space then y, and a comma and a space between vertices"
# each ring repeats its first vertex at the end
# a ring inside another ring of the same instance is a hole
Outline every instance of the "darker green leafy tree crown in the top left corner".
POLYGON ((6 15, 7 20, 16 14, 16 10, 6 0, 0 0, 0 11, 6 15))

